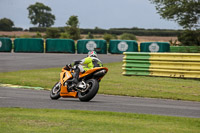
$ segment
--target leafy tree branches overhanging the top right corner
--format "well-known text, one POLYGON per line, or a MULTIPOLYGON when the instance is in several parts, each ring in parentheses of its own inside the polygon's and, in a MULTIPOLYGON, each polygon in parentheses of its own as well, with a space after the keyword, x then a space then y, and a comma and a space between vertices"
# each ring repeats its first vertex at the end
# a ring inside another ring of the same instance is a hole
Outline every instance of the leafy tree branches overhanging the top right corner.
POLYGON ((185 29, 200 27, 199 0, 150 0, 162 18, 174 20, 185 29))

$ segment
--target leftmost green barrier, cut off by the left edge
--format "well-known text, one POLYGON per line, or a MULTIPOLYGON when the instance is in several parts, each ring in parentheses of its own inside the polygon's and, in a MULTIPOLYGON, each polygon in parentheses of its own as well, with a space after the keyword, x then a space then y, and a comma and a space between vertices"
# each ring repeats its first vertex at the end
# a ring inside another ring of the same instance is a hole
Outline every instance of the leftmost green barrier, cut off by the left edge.
POLYGON ((0 52, 11 52, 12 41, 10 38, 0 38, 0 52))

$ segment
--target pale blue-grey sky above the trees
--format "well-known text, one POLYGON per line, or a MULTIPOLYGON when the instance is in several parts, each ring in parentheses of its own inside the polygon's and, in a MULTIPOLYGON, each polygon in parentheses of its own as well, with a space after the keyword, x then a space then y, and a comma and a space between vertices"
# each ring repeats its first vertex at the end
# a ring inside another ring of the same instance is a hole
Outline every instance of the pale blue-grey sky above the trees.
POLYGON ((162 19, 149 0, 0 0, 0 19, 11 19, 15 27, 34 27, 27 7, 41 2, 56 16, 53 27, 66 26, 70 16, 78 16, 80 28, 182 29, 174 21, 162 19))

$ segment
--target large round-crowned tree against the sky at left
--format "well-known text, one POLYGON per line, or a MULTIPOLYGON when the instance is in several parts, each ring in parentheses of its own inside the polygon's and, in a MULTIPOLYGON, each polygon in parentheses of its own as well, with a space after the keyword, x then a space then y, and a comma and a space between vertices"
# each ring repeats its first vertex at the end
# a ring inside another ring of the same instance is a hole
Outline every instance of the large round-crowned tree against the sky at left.
POLYGON ((42 3, 36 2, 34 5, 30 5, 28 8, 28 18, 33 25, 38 27, 50 27, 54 24, 55 16, 51 14, 51 8, 45 6, 42 3))

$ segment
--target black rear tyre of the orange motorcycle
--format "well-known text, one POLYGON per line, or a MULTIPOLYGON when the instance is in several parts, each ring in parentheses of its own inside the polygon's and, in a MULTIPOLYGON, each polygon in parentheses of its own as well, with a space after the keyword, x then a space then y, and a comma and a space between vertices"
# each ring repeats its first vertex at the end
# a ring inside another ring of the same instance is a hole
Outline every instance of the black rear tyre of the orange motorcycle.
POLYGON ((88 102, 97 94, 99 90, 99 82, 96 79, 89 79, 86 81, 87 91, 78 92, 78 98, 82 102, 88 102))

